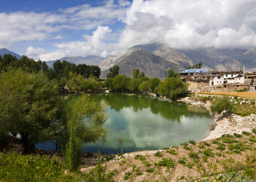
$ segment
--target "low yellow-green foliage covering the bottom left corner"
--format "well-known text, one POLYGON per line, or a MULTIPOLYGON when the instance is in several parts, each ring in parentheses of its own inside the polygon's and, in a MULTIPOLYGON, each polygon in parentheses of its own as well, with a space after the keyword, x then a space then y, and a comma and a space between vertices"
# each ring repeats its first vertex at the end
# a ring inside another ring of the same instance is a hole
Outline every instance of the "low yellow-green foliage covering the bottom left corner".
POLYGON ((87 181, 80 173, 64 174, 58 157, 0 153, 1 181, 87 181))

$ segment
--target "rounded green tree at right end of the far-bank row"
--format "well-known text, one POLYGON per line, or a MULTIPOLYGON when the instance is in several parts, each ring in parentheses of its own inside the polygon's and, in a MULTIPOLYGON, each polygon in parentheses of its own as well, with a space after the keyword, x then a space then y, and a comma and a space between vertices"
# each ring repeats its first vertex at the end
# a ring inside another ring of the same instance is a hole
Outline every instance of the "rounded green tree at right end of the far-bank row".
POLYGON ((171 99, 179 98, 188 93, 188 85, 183 83, 180 78, 171 77, 165 78, 159 84, 159 93, 171 99))

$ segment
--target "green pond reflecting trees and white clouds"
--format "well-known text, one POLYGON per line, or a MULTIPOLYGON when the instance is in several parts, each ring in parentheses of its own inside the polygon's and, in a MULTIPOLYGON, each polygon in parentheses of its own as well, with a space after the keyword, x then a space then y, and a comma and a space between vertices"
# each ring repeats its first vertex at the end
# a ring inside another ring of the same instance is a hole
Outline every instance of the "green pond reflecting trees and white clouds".
MULTIPOLYGON (((72 107, 77 96, 80 95, 69 95, 66 104, 72 107)), ((118 139, 122 137, 126 139, 123 144, 124 153, 179 146, 191 139, 204 138, 212 126, 208 110, 178 101, 122 93, 91 96, 109 104, 109 118, 104 126, 110 132, 104 144, 104 153, 120 153, 121 144, 118 139)), ((100 142, 84 144, 82 147, 87 152, 98 152, 101 149, 100 142)))

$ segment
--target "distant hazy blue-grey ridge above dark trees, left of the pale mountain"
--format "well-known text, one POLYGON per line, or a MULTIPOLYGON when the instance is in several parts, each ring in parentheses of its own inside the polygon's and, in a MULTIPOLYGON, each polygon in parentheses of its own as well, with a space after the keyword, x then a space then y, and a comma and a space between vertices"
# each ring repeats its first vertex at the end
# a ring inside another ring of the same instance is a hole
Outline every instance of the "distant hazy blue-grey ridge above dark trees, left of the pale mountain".
MULTIPOLYGON (((103 61, 104 58, 101 58, 99 56, 86 56, 86 57, 82 57, 82 56, 69 56, 69 57, 64 57, 59 59, 60 61, 68 61, 74 64, 87 64, 87 65, 96 65, 99 64, 99 62, 103 61)), ((46 64, 52 68, 53 63, 57 61, 46 61, 46 64)))

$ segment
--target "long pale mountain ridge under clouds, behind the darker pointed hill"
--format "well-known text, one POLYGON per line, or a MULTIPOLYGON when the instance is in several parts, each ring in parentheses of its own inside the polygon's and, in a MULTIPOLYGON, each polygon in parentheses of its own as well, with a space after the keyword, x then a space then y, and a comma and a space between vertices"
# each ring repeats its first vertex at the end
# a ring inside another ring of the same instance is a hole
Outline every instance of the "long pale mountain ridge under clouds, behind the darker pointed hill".
MULTIPOLYGON (((122 62, 126 60, 132 53, 137 50, 145 50, 148 53, 152 53, 155 56, 160 56, 165 61, 169 62, 172 68, 179 72, 181 70, 188 69, 188 66, 193 66, 198 62, 202 62, 202 69, 205 70, 256 70, 256 50, 242 50, 242 49, 215 49, 215 48, 202 48, 193 50, 172 49, 167 44, 146 44, 135 45, 130 49, 123 52, 116 53, 113 56, 108 57, 104 61, 98 64, 102 70, 101 77, 104 78, 105 70, 110 67, 122 65, 122 62), (103 74, 104 73, 104 74, 103 74)), ((143 54, 145 55, 145 54, 143 54)), ((134 64, 133 64, 134 65, 134 64)), ((147 70, 148 65, 144 62, 144 65, 140 66, 141 69, 147 70)), ((131 67, 129 70, 136 69, 138 67, 131 67)), ((120 67, 120 70, 122 68, 120 67)), ((139 69, 139 68, 138 68, 139 69)), ((154 70, 158 67, 152 68, 152 75, 154 77, 154 70)), ((120 72, 120 74, 123 74, 120 72)), ((130 75, 131 73, 127 74, 130 75)), ((161 77, 159 75, 158 77, 161 77)))

